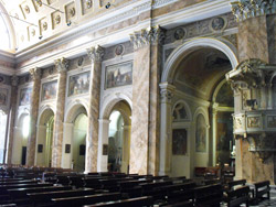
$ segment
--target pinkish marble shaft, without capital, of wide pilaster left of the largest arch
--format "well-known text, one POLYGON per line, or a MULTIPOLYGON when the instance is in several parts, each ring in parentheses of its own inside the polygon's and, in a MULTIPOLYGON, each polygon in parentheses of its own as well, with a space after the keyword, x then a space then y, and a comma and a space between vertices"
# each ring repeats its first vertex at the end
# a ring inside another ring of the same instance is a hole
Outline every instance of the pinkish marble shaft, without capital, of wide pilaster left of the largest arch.
POLYGON ((150 46, 134 55, 130 172, 148 173, 150 46))

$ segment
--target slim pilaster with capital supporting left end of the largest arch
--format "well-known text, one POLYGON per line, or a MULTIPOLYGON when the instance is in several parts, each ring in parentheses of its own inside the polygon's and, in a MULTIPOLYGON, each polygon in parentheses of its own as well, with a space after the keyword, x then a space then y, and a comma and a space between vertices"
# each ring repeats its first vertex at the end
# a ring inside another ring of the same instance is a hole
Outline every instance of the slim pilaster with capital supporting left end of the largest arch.
POLYGON ((176 87, 161 83, 160 166, 159 175, 169 175, 171 165, 171 99, 176 87))

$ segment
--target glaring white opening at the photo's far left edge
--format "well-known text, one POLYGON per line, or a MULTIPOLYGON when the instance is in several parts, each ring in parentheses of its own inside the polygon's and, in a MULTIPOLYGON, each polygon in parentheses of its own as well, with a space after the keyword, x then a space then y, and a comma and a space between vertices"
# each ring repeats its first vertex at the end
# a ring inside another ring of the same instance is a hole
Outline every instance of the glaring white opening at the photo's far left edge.
POLYGON ((0 109, 0 164, 3 164, 4 161, 4 154, 7 150, 7 122, 8 122, 8 115, 0 109))

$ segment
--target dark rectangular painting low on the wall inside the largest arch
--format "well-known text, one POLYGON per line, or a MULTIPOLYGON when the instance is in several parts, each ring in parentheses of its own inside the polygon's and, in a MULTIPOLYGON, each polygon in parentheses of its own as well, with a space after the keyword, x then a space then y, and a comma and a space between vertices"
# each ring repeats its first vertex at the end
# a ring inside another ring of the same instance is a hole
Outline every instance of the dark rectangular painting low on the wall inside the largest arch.
POLYGON ((187 130, 185 129, 172 130, 172 154, 173 155, 187 154, 187 130))

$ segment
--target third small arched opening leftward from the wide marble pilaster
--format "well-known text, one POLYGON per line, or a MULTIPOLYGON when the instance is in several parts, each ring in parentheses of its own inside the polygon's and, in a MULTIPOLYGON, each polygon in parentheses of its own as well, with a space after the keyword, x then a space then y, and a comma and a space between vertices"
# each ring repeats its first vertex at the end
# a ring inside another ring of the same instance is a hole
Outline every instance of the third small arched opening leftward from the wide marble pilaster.
POLYGON ((52 143, 53 143, 54 112, 45 109, 40 116, 39 130, 36 135, 36 165, 52 165, 52 143))

